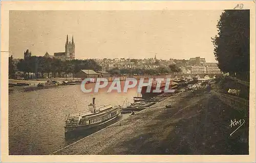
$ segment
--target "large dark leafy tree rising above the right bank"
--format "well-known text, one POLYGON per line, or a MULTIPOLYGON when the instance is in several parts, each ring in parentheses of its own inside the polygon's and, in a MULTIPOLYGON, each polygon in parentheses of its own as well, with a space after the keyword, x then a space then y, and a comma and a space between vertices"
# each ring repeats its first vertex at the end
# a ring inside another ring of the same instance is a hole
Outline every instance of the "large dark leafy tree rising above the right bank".
POLYGON ((212 38, 221 71, 241 79, 249 79, 249 20, 249 10, 224 10, 212 38))

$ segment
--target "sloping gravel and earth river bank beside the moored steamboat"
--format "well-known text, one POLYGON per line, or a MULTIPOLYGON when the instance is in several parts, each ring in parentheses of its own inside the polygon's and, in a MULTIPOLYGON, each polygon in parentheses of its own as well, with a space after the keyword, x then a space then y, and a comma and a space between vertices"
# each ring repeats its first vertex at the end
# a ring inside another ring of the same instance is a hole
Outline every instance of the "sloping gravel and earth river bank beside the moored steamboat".
POLYGON ((248 154, 248 122, 211 93, 182 92, 53 154, 248 154), (230 136, 234 118, 245 123, 230 136))

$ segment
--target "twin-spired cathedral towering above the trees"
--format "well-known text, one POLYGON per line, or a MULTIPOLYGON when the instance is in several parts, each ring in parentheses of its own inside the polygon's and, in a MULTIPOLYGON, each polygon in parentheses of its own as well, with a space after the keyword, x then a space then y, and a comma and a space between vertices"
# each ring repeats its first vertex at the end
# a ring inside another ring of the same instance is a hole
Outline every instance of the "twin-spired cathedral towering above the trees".
POLYGON ((75 59, 74 37, 72 37, 72 42, 70 42, 69 37, 67 35, 67 41, 65 44, 65 52, 54 52, 53 56, 54 56, 54 58, 60 59, 62 61, 74 60, 75 59))

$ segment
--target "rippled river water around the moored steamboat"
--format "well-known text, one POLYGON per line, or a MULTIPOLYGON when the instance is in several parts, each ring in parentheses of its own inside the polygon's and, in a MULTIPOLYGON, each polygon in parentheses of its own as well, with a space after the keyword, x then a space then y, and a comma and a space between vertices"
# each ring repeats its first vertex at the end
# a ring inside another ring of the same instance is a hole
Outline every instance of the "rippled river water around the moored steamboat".
MULTIPOLYGON (((136 91, 134 88, 127 93, 83 93, 80 85, 31 92, 16 89, 9 93, 9 154, 45 155, 65 147, 85 136, 65 139, 66 114, 88 110, 93 97, 98 105, 122 105, 126 98, 133 102, 136 91)), ((126 117, 129 115, 118 120, 126 117)))

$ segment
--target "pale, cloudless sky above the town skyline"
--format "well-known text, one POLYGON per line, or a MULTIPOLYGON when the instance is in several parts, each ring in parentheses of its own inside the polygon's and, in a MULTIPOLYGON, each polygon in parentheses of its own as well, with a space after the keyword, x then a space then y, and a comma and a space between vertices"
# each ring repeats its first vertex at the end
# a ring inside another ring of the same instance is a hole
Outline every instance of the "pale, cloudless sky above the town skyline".
POLYGON ((72 35, 76 59, 205 58, 217 62, 211 37, 222 11, 10 11, 10 51, 23 58, 65 51, 72 35))

